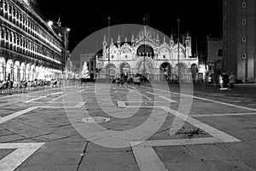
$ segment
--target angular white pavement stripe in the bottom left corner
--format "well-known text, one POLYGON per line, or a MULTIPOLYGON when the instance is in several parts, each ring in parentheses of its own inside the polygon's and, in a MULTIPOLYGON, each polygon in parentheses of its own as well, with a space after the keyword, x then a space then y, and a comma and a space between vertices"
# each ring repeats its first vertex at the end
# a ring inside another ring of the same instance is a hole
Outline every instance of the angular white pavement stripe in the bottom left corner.
POLYGON ((16 149, 8 156, 0 160, 1 171, 14 171, 25 162, 35 151, 44 145, 44 143, 3 143, 0 144, 0 149, 16 149))

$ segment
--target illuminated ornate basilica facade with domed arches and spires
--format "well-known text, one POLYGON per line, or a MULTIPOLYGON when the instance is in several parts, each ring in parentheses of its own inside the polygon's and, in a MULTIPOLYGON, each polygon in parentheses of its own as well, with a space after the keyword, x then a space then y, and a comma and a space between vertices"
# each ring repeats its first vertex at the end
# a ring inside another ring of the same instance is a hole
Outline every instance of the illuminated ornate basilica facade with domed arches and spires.
POLYGON ((179 78, 189 81, 198 66, 198 58, 192 57, 191 37, 183 36, 183 41, 174 40, 171 36, 159 37, 155 32, 144 26, 142 31, 131 36, 131 41, 108 43, 103 40, 102 56, 96 57, 97 78, 113 78, 124 73, 131 77, 143 74, 148 80, 163 81, 179 78), (161 40, 161 41, 160 41, 161 40), (179 71, 178 71, 179 68, 179 71))

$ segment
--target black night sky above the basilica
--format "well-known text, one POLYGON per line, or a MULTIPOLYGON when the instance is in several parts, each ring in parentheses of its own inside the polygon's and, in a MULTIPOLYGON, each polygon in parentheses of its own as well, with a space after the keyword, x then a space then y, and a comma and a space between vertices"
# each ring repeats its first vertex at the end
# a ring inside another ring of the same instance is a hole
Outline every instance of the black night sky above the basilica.
MULTIPOLYGON (((108 26, 119 24, 143 25, 148 14, 149 26, 170 36, 177 32, 177 18, 180 19, 180 33, 189 31, 192 43, 209 37, 222 37, 222 0, 169 0, 162 1, 63 1, 38 0, 39 9, 49 20, 61 17, 62 26, 71 28, 70 50, 85 37, 108 26)), ((126 35, 125 35, 126 36, 126 35)), ((131 37, 131 35, 127 35, 131 37)), ((103 39, 103 37, 102 37, 103 39)), ((114 37, 114 40, 116 37, 114 37)))

